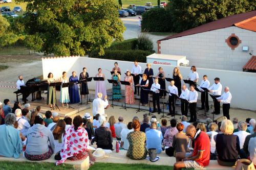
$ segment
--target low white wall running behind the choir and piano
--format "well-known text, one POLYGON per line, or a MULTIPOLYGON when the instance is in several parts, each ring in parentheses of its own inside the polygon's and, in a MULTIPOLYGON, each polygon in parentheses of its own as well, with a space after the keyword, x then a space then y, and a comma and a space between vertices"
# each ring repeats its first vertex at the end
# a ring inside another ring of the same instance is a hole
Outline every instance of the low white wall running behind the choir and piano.
MULTIPOLYGON (((111 79, 111 74, 108 70, 111 70, 114 66, 116 60, 105 60, 105 59, 95 59, 88 57, 60 57, 60 58, 42 58, 42 68, 44 79, 47 79, 48 73, 52 72, 55 79, 61 77, 62 71, 67 71, 68 77, 71 76, 72 71, 76 71, 79 75, 82 71, 82 67, 87 67, 87 71, 90 77, 94 77, 97 74, 97 69, 102 68, 102 72, 105 74, 106 79, 111 79), (107 70, 108 69, 108 70, 107 70)), ((132 68, 134 62, 129 61, 117 61, 119 67, 121 68, 121 80, 124 78, 124 72, 127 69, 132 68)), ((145 70, 146 63, 139 63, 142 70, 145 70)), ((161 66, 165 71, 166 77, 172 77, 172 72, 175 66, 158 65, 152 64, 154 70, 154 75, 158 73, 158 68, 161 66)), ((187 78, 190 67, 180 67, 181 74, 184 79, 187 78)), ((253 72, 242 72, 242 71, 228 71, 228 70, 218 70, 218 69, 208 69, 208 68, 197 68, 199 74, 199 84, 202 81, 203 75, 208 76, 210 84, 214 83, 214 78, 219 77, 221 84, 223 86, 222 92, 225 86, 229 86, 230 92, 232 93, 231 107, 242 108, 249 110, 256 110, 256 74, 253 72)), ((107 89, 111 89, 112 85, 108 83, 105 79, 105 84, 107 89)), ((95 89, 95 81, 89 83, 89 89, 95 89)), ((166 88, 168 83, 166 82, 166 88)), ((182 81, 182 84, 184 82, 182 81)), ((122 89, 124 86, 122 85, 122 89)), ((200 93, 198 100, 200 100, 200 93)), ((211 100, 209 98, 209 100, 211 100)))

